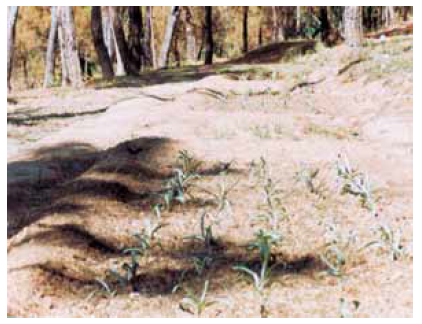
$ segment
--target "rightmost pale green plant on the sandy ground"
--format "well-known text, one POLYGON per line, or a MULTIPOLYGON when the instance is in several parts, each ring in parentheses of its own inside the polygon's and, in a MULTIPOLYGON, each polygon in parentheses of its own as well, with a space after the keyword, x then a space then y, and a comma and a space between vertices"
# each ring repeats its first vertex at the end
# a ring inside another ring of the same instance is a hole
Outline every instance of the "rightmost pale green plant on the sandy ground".
POLYGON ((392 261, 397 261, 400 257, 406 255, 406 249, 402 243, 401 228, 393 230, 388 225, 380 225, 377 232, 379 238, 369 242, 364 248, 371 246, 378 247, 379 249, 386 251, 390 255, 392 261))

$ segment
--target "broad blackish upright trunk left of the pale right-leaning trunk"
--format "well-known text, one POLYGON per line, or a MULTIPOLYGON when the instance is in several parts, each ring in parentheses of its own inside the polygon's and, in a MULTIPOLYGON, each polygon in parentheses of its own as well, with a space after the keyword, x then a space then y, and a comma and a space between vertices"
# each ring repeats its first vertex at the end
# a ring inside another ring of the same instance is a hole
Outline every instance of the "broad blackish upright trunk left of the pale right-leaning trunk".
POLYGON ((142 13, 139 7, 128 7, 129 34, 128 49, 130 59, 137 71, 141 69, 144 55, 142 53, 141 39, 143 38, 142 13))

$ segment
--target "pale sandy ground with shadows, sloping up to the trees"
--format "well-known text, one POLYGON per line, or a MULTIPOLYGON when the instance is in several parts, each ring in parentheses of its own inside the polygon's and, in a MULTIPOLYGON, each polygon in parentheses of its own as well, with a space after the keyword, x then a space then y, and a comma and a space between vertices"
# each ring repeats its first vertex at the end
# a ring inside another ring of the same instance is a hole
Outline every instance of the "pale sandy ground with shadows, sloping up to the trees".
POLYGON ((259 269, 245 246, 269 226, 254 217, 264 188, 251 169, 263 157, 287 215, 265 290, 268 315, 339 317, 344 298, 351 312, 359 301, 356 317, 412 317, 413 38, 373 40, 359 53, 306 49, 280 64, 276 54, 8 98, 8 315, 191 317, 180 303, 209 280, 207 299, 218 301, 202 316, 259 317, 253 284, 233 267, 259 269), (130 258, 121 251, 153 218, 182 150, 202 161, 197 185, 206 190, 162 211, 161 245, 141 257, 136 291, 101 293, 98 280, 117 287, 107 274, 123 271, 130 258), (340 194, 339 154, 368 175, 375 211, 340 194), (298 180, 315 170, 311 184, 298 180), (202 210, 214 213, 207 192, 223 183, 236 183, 231 212, 212 227, 218 244, 204 250, 184 238, 199 233, 202 210), (359 250, 383 224, 402 231, 398 260, 359 250), (337 245, 342 276, 321 260, 330 226, 357 235, 337 245), (212 261, 200 271, 194 260, 204 256, 212 261))

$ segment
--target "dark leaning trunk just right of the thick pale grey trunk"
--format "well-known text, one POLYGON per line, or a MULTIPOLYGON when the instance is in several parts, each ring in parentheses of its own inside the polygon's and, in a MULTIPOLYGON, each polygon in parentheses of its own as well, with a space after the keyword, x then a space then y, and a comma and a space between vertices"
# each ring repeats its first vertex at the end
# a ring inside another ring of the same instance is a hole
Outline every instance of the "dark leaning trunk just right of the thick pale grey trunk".
POLYGON ((93 6, 91 10, 91 33, 103 78, 112 79, 114 77, 113 65, 104 43, 101 7, 98 6, 93 6))

